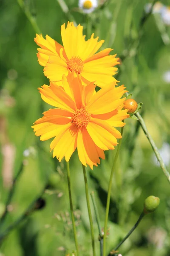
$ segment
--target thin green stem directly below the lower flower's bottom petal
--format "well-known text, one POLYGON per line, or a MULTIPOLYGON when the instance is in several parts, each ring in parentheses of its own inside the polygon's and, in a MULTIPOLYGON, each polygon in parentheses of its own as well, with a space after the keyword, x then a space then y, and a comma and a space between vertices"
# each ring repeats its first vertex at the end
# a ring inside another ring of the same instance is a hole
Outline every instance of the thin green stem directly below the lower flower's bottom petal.
POLYGON ((94 228, 93 228, 93 221, 92 221, 92 215, 91 215, 90 200, 88 195, 88 180, 87 180, 87 175, 85 171, 85 166, 83 164, 82 164, 82 170, 83 170, 83 175, 85 180, 85 195, 86 195, 86 202, 88 207, 88 217, 89 217, 90 227, 91 227, 91 243, 93 248, 93 256, 95 256, 96 253, 95 253, 95 244, 94 244, 94 228))

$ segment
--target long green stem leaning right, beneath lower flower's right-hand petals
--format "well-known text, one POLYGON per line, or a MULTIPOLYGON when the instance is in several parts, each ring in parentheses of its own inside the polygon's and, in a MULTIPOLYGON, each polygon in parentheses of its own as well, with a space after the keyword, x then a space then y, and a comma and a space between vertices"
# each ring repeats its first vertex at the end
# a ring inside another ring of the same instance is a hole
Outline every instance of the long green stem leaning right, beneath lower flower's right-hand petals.
MULTIPOLYGON (((123 134, 123 128, 124 128, 124 126, 121 128, 121 134, 123 134)), ((122 139, 119 140, 119 144, 117 146, 117 151, 116 151, 116 155, 115 155, 115 158, 114 158, 114 161, 113 161, 113 166, 112 166, 112 169, 111 169, 111 176, 110 176, 110 180, 109 180, 108 198, 107 198, 106 213, 105 213, 105 227, 104 227, 104 236, 103 236, 103 256, 106 255, 106 233, 107 233, 107 225, 108 225, 110 200, 111 200, 112 179, 113 179, 113 173, 114 173, 115 166, 116 166, 116 161, 117 161, 118 156, 119 156, 121 143, 122 143, 122 139)))

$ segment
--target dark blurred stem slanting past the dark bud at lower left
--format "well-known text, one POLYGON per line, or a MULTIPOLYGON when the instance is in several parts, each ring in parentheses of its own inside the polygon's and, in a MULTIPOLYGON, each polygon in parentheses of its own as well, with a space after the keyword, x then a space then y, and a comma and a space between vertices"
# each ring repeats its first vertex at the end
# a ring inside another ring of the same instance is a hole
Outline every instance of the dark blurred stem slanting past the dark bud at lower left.
POLYGON ((39 195, 38 198, 36 198, 29 206, 28 208, 26 209, 26 211, 16 220, 14 221, 14 223, 12 223, 11 225, 9 225, 7 227, 7 229, 0 234, 0 242, 5 238, 5 236, 8 235, 8 233, 13 230, 15 227, 17 227, 18 224, 20 224, 28 215, 30 215, 34 209, 36 209, 36 202, 37 200, 44 194, 44 191, 45 191, 45 188, 46 188, 46 185, 44 186, 44 188, 42 189, 42 192, 41 194, 39 195))

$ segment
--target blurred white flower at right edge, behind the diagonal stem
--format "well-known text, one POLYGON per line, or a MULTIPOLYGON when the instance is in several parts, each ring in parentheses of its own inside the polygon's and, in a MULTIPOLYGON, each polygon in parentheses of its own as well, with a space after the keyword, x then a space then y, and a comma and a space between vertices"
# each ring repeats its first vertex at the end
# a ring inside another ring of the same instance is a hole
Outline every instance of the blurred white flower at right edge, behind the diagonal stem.
MULTIPOLYGON (((159 149, 159 153, 161 155, 161 158, 166 166, 170 164, 170 145, 168 143, 163 143, 161 149, 159 149)), ((155 156, 155 154, 152 157, 153 163, 156 166, 159 166, 159 162, 155 156)))

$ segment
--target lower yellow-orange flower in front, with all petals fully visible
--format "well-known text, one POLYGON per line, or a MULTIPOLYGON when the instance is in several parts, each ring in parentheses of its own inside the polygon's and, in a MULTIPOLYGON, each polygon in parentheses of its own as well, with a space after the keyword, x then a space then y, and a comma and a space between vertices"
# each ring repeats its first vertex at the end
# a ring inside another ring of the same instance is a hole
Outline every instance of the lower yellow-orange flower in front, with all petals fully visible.
POLYGON ((100 163, 99 157, 105 159, 104 150, 114 149, 122 137, 114 127, 125 125, 122 120, 129 116, 122 110, 125 87, 115 84, 94 93, 94 82, 84 86, 80 76, 70 74, 67 78, 63 75, 63 87, 51 83, 39 88, 42 99, 57 108, 45 111, 32 128, 40 140, 55 137, 50 144, 53 157, 69 161, 77 148, 82 164, 93 169, 100 163))

